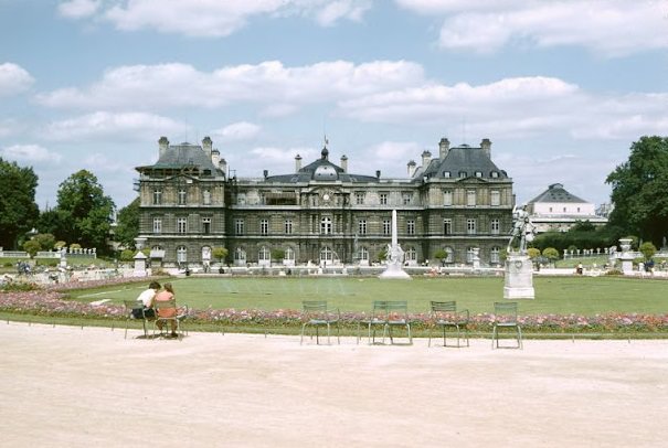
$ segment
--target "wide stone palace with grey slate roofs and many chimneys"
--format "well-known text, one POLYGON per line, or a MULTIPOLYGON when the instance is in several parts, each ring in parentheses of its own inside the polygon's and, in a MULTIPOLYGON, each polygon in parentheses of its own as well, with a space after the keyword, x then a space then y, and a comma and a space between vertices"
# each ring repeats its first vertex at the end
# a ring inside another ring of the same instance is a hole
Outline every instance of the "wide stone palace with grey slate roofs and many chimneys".
POLYGON ((137 168, 137 242, 153 265, 208 266, 221 246, 232 265, 369 265, 383 257, 396 210, 406 264, 496 266, 512 227, 512 180, 491 161, 489 139, 450 147, 443 138, 438 157, 425 150, 396 179, 350 173, 327 145, 308 164, 297 154, 291 173, 256 179, 229 177, 209 137, 158 145, 157 162, 137 168))

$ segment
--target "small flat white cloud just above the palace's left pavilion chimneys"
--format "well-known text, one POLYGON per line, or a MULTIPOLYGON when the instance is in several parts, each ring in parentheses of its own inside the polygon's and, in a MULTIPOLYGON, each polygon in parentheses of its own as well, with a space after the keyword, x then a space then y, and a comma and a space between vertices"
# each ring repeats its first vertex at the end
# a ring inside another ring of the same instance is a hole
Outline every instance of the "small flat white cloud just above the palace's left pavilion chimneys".
POLYGON ((145 113, 96 111, 76 118, 51 122, 44 137, 51 140, 112 138, 145 140, 148 136, 182 131, 184 126, 171 118, 145 113))

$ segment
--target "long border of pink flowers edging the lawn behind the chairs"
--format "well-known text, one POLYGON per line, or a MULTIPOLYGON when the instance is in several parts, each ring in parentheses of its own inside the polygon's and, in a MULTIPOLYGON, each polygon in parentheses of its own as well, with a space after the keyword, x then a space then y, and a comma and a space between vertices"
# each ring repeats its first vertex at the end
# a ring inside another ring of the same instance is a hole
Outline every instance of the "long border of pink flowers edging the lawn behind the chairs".
MULTIPOLYGON (((29 291, 0 291, 0 311, 45 316, 45 317, 83 317, 95 319, 121 319, 125 317, 123 306, 98 305, 66 300, 66 291, 87 289, 105 285, 146 282, 147 278, 107 279, 52 285, 29 291)), ((343 312, 341 323, 356 328, 364 313, 343 312)), ((299 310, 278 309, 272 311, 258 309, 204 309, 192 310, 189 318, 193 323, 212 323, 227 327, 265 327, 298 328, 301 324, 299 310)), ((427 313, 411 314, 416 330, 432 326, 427 313)), ((470 317, 469 330, 488 332, 491 330, 494 314, 479 313, 470 317)), ((577 314, 537 314, 519 318, 522 330, 528 333, 668 333, 668 314, 642 313, 605 313, 595 316, 577 314)))

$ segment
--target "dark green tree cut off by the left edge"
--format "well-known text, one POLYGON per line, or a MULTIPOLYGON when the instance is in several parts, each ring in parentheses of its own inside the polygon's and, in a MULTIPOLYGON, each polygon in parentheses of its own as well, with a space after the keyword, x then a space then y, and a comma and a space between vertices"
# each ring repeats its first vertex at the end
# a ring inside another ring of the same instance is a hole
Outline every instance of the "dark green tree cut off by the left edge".
POLYGON ((32 168, 20 168, 0 158, 0 246, 18 247, 19 237, 36 224, 36 188, 38 177, 32 168))

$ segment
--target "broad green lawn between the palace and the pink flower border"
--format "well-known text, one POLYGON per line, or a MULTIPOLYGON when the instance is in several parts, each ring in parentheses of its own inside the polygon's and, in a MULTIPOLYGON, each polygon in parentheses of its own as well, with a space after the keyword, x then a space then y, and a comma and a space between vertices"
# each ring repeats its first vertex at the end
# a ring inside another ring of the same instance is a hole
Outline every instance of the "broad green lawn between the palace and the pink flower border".
MULTIPOLYGON (((668 281, 621 277, 536 277, 536 300, 521 300, 522 314, 668 312, 668 281)), ((369 310, 372 300, 409 300, 411 312, 427 311, 430 300, 457 300, 471 313, 490 312, 503 300, 502 278, 183 278, 172 279, 180 303, 197 309, 301 309, 301 300, 327 299, 341 311, 369 310)), ((83 301, 134 299, 146 285, 72 291, 83 301)))

